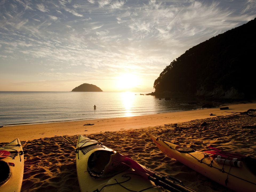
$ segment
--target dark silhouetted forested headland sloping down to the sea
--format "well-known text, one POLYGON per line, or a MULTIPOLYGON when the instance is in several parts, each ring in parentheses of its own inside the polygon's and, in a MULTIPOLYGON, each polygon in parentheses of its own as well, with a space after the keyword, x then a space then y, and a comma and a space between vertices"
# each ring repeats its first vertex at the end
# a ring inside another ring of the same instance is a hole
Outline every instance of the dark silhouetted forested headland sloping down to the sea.
POLYGON ((187 50, 154 82, 155 95, 256 98, 256 18, 187 50))

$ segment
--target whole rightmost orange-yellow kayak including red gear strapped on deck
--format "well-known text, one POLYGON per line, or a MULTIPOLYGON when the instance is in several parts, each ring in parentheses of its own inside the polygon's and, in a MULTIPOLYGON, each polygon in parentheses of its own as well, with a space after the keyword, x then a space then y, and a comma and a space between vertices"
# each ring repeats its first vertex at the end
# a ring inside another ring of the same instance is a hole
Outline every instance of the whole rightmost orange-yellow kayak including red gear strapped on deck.
MULTIPOLYGON (((168 157, 176 159, 198 173, 221 185, 239 192, 256 191, 256 175, 243 159, 243 155, 228 153, 218 149, 196 151, 188 147, 156 138, 150 135, 157 147, 168 157)), ((255 159, 249 159, 255 163, 255 159)), ((255 171, 255 164, 254 171, 255 171)))

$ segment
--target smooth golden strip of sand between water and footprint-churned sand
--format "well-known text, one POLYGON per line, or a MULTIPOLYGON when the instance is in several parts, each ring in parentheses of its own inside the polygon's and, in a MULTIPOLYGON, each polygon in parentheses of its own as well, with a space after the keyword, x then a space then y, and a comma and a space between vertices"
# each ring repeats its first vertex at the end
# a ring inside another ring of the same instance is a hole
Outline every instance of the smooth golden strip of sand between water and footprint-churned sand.
POLYGON ((14 138, 19 138, 21 141, 29 141, 63 135, 94 134, 105 131, 141 129, 171 123, 189 122, 195 119, 214 118, 222 115, 230 115, 229 112, 244 112, 248 109, 256 109, 255 102, 226 104, 225 106, 229 106, 229 109, 220 110, 220 107, 215 107, 131 117, 3 126, 0 128, 0 142, 9 142, 14 138), (210 113, 213 113, 213 115, 210 116, 210 113))

